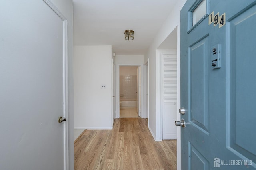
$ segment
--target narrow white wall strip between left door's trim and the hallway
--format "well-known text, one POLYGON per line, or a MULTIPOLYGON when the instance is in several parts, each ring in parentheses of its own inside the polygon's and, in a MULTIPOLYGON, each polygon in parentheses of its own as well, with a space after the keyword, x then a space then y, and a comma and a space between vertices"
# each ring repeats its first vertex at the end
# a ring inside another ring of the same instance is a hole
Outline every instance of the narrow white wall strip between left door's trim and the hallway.
POLYGON ((74 99, 73 99, 73 2, 51 0, 68 20, 68 153, 69 170, 74 169, 74 99))

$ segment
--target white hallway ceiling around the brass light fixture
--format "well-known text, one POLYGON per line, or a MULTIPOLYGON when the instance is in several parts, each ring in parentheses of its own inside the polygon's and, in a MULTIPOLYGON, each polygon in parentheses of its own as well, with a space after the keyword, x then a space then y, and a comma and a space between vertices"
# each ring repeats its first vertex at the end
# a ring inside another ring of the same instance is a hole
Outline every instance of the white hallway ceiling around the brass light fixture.
POLYGON ((74 45, 112 45, 116 55, 144 55, 177 1, 73 0, 74 45), (128 41, 124 31, 130 29, 134 40, 128 41))

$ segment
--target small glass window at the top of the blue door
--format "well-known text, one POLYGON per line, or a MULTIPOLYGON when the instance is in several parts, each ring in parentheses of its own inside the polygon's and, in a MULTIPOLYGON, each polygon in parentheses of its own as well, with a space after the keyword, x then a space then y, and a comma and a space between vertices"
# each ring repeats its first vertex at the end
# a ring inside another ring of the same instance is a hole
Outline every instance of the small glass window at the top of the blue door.
POLYGON ((200 21, 206 15, 206 0, 203 0, 193 11, 192 11, 194 26, 198 21, 200 21))

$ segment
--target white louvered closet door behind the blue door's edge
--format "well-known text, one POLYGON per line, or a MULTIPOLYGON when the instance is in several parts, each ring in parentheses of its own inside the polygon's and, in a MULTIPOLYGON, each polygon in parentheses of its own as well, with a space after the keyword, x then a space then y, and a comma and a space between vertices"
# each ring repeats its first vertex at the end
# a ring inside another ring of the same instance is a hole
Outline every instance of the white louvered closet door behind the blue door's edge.
POLYGON ((177 55, 162 54, 163 139, 176 139, 177 55))

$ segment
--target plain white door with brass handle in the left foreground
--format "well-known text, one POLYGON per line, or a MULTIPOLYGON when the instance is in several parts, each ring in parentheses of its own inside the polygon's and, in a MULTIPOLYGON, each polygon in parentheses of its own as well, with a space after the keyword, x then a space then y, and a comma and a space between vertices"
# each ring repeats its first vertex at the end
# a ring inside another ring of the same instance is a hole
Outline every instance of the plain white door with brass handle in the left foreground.
POLYGON ((66 22, 43 0, 2 1, 0 21, 0 169, 66 169, 66 22))

